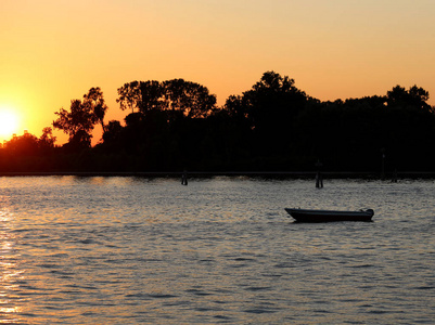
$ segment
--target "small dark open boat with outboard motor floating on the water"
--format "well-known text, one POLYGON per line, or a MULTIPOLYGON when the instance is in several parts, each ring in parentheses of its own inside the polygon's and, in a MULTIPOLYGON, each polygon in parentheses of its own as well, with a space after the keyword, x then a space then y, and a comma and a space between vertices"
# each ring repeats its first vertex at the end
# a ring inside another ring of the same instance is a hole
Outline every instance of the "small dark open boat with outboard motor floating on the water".
POLYGON ((285 209, 297 222, 371 221, 372 209, 359 211, 285 209))

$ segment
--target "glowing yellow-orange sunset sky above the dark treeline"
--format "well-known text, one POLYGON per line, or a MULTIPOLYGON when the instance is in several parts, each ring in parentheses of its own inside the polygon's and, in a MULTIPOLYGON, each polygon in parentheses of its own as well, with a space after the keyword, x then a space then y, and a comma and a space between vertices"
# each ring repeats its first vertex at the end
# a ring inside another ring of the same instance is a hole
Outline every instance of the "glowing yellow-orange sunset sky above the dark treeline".
POLYGON ((434 17, 434 0, 0 0, 0 116, 40 136, 91 87, 123 120, 125 82, 183 78, 223 104, 267 70, 322 101, 418 84, 435 105, 434 17))

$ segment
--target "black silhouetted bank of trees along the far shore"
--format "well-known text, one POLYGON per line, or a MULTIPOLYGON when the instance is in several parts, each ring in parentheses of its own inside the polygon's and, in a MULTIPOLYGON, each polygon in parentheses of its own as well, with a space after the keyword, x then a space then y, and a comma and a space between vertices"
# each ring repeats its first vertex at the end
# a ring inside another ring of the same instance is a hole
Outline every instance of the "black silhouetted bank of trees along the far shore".
MULTIPOLYGON (((92 88, 53 127, 69 136, 54 145, 14 138, 0 151, 1 171, 433 171, 435 112, 428 93, 396 86, 384 96, 320 102, 273 72, 216 106, 199 83, 133 81, 118 89, 123 122, 104 123, 103 93, 92 88), (101 123, 103 138, 90 146, 101 123)), ((43 138, 43 139, 42 139, 43 138)))

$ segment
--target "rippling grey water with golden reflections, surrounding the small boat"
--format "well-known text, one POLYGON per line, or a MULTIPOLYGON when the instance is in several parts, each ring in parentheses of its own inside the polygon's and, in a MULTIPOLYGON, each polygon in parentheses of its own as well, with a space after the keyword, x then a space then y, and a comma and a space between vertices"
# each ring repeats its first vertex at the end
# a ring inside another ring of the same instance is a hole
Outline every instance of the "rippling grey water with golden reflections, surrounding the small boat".
POLYGON ((324 185, 0 178, 0 323, 433 324, 434 181, 324 185))

